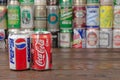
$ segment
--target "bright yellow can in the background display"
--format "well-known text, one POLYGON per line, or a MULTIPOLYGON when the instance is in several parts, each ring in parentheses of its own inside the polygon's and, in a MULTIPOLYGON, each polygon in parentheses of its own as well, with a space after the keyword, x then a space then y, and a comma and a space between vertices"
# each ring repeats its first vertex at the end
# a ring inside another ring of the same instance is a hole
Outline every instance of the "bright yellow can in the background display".
POLYGON ((113 27, 113 7, 101 6, 100 7, 100 28, 113 27))

